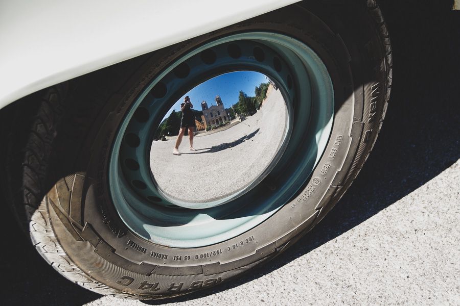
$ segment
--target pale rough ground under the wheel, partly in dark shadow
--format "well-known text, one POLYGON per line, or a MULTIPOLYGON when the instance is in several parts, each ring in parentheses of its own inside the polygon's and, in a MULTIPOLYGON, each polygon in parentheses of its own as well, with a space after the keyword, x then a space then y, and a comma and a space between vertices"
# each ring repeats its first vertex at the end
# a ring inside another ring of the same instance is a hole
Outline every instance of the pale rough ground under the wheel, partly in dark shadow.
MULTIPOLYGON (((448 2, 380 1, 394 86, 373 152, 338 205, 280 257, 207 291, 147 304, 460 304, 460 23, 448 2)), ((64 279, 3 226, 4 305, 143 305, 64 279)))

